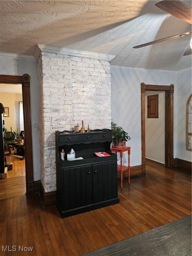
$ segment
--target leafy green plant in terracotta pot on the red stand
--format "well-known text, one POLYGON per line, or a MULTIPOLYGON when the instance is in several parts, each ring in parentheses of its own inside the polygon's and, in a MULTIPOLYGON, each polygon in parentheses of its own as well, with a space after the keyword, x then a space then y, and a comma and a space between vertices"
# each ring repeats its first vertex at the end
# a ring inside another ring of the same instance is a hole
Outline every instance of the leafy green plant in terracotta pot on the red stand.
POLYGON ((114 122, 111 122, 111 131, 113 136, 113 143, 115 147, 125 147, 125 142, 130 140, 128 133, 114 122))

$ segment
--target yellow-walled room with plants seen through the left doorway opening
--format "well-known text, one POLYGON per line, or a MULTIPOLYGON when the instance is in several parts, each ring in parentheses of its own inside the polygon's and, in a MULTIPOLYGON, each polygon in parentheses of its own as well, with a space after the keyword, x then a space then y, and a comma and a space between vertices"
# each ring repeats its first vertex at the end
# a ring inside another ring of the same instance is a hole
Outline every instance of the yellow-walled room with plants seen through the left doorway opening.
POLYGON ((22 85, 0 83, 0 102, 5 108, 3 135, 7 179, 25 176, 22 85))

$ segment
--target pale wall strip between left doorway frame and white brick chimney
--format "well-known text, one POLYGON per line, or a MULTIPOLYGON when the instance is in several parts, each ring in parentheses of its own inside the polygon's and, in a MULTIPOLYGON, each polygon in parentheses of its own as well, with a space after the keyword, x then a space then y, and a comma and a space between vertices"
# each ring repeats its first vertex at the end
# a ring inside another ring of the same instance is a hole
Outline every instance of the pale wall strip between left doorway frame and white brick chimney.
MULTIPOLYGON (((22 76, 25 73, 30 76, 31 121, 38 124, 39 92, 36 61, 0 57, 0 74, 22 76)), ((39 131, 32 131, 32 142, 34 180, 38 180, 40 175, 39 131)))

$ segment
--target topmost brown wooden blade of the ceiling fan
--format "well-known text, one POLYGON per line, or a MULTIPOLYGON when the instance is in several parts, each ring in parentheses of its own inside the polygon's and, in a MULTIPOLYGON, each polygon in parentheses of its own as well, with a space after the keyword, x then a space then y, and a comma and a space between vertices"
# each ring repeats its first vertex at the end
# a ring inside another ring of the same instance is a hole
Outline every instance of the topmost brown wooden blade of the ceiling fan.
POLYGON ((155 4, 157 7, 171 15, 192 24, 192 9, 178 0, 165 0, 155 4))

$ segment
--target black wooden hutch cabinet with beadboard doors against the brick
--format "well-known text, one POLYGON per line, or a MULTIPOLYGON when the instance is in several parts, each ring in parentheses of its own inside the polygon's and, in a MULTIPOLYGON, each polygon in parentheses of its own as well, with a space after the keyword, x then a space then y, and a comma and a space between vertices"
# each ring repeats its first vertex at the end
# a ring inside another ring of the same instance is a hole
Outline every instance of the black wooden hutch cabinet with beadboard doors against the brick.
POLYGON ((101 131, 78 135, 56 132, 56 205, 61 217, 119 202, 117 156, 110 151, 112 134, 101 131), (87 141, 87 136, 91 140, 87 141), (73 148, 76 157, 84 159, 63 161, 59 156, 61 148, 65 150, 65 158, 73 148), (110 156, 94 157, 94 152, 100 151, 107 151, 110 156))

